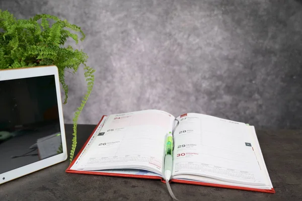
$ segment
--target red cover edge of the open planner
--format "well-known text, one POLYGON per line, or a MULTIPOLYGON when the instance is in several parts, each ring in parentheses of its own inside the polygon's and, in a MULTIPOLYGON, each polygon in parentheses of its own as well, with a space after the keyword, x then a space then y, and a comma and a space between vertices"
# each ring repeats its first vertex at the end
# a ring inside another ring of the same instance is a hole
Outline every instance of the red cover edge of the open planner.
MULTIPOLYGON (((160 179, 163 183, 166 183, 165 179, 163 179, 160 176, 151 176, 151 175, 137 175, 137 174, 121 174, 121 173, 107 173, 107 172, 96 172, 96 171, 80 171, 80 170, 72 170, 70 169, 75 161, 79 158, 81 153, 83 152, 84 148, 90 141, 90 139, 93 137, 95 131, 102 123, 103 119, 107 117, 104 115, 94 131, 91 133, 87 141, 85 142, 84 146, 81 148, 77 156, 72 160, 68 168, 65 170, 67 173, 77 173, 77 174, 92 174, 92 175, 103 175, 103 176, 118 176, 118 177, 132 177, 132 178, 145 178, 145 179, 160 179)), ((276 191, 274 188, 271 189, 259 189, 259 188, 250 188, 250 187, 241 187, 241 186, 232 186, 232 185, 222 185, 222 184, 214 184, 214 183, 206 183, 206 182, 200 182, 200 181, 188 181, 188 180, 182 180, 182 179, 172 179, 170 182, 175 183, 185 183, 185 184, 193 184, 193 185, 202 185, 202 186, 211 186, 211 187, 219 187, 219 188, 230 188, 230 189, 238 189, 238 190, 248 190, 248 191, 256 191, 256 192, 266 192, 266 193, 275 193, 276 191)))

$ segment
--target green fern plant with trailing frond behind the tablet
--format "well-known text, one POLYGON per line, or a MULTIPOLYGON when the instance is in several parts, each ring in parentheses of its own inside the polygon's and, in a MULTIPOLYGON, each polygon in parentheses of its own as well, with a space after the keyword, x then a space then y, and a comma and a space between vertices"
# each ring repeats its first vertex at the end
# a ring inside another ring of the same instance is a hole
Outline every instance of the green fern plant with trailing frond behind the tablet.
POLYGON ((93 89, 95 70, 86 65, 86 53, 73 49, 70 45, 64 46, 68 38, 73 39, 76 44, 79 42, 78 35, 68 29, 80 33, 81 41, 85 39, 82 29, 67 20, 46 14, 17 20, 10 12, 0 10, 0 69, 56 65, 65 92, 63 104, 66 104, 68 85, 65 83, 64 73, 66 69, 72 69, 75 73, 81 64, 84 65, 87 93, 73 117, 73 138, 69 157, 71 162, 77 146, 78 119, 93 89))

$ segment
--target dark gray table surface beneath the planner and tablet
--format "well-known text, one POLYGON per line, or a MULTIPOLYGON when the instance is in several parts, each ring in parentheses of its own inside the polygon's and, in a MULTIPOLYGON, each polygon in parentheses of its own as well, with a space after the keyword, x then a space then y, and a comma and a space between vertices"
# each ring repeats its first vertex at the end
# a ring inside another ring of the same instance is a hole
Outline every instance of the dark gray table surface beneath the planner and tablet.
MULTIPOLYGON (((79 149, 95 125, 78 126, 79 149)), ((72 125, 66 125, 68 153, 72 125)), ((302 200, 302 131, 257 131, 275 194, 173 183, 179 200, 302 200)), ((0 185, 0 200, 172 200, 160 180, 66 173, 69 161, 0 185)), ((3 165, 3 164, 1 164, 3 165)))

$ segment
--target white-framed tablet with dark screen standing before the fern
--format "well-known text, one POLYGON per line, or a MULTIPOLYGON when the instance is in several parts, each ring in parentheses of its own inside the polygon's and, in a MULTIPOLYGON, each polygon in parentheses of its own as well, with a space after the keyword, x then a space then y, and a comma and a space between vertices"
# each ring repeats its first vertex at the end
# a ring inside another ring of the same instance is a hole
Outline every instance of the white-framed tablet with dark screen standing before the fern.
POLYGON ((0 70, 0 184, 66 159, 57 67, 0 70))

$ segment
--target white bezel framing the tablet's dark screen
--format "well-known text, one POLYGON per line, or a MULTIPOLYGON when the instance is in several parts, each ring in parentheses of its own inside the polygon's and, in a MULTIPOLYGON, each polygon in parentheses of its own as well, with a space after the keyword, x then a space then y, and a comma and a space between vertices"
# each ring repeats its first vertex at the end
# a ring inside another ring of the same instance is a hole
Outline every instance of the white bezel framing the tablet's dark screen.
MULTIPOLYGON (((37 77, 37 76, 44 76, 44 75, 54 75, 55 77, 55 87, 57 93, 58 113, 59 113, 63 153, 2 173, 0 174, 0 184, 27 175, 29 173, 38 171, 40 169, 49 167, 51 165, 65 161, 67 159, 67 148, 66 148, 66 138, 65 138, 65 128, 64 128, 64 120, 63 120, 63 112, 62 112, 62 101, 61 101, 58 68, 56 66, 37 66, 37 67, 0 70, 0 81, 19 79, 19 78, 28 78, 28 77, 37 77)), ((1 164, 1 165, 5 165, 5 164, 1 164)))

